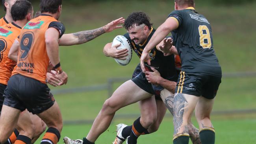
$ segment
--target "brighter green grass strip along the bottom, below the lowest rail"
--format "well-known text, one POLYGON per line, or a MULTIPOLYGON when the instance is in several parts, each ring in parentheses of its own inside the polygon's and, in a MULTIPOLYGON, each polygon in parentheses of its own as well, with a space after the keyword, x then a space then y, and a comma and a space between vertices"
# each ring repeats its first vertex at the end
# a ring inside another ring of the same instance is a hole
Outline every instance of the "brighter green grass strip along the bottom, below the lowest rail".
MULTIPOLYGON (((241 116, 242 117, 242 116, 241 116)), ((255 126, 255 119, 244 119, 241 117, 236 117, 236 119, 228 118, 213 118, 212 122, 216 130, 216 139, 215 144, 253 144, 256 141, 256 129, 252 126, 255 126)), ((255 118, 255 116, 254 116, 255 118)), ((115 138, 115 125, 119 123, 132 124, 134 119, 126 120, 115 120, 96 141, 97 144, 110 144, 115 138)), ((196 124, 195 119, 193 123, 196 124)), ((68 136, 73 139, 82 139, 87 135, 91 124, 86 125, 65 125, 61 133, 62 142, 63 137, 68 136)), ((157 132, 150 135, 142 135, 138 139, 139 144, 170 144, 172 143, 173 138, 173 124, 172 117, 167 116, 163 119, 163 122, 160 125, 160 128, 157 132)), ((39 144, 39 141, 35 142, 39 144)), ((190 142, 191 144, 191 142, 190 142)))

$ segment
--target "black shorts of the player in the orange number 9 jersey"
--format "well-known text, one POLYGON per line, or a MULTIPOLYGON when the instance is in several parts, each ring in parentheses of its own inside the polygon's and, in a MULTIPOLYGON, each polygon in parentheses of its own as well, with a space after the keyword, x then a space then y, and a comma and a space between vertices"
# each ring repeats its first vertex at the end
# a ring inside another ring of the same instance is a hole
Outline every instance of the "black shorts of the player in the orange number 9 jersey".
POLYGON ((11 76, 4 91, 4 105, 33 114, 49 109, 55 100, 45 83, 16 74, 11 76))

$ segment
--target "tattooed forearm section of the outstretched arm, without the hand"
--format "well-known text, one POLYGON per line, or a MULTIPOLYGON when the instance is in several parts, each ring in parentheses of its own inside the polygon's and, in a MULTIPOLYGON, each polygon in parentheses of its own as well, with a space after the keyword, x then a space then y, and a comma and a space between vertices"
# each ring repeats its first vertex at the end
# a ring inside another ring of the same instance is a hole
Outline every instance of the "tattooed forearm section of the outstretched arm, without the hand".
POLYGON ((96 37, 102 35, 105 32, 106 31, 104 30, 104 28, 101 27, 101 28, 97 28, 95 30, 79 31, 77 33, 73 33, 73 35, 78 40, 77 44, 83 44, 85 42, 95 39, 96 37))

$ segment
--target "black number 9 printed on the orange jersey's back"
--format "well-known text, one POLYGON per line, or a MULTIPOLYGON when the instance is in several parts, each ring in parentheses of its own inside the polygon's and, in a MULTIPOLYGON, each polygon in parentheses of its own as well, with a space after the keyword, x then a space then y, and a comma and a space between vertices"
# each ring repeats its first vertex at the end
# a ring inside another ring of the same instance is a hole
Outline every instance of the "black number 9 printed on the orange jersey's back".
POLYGON ((33 39, 34 39, 33 33, 25 33, 24 35, 22 35, 22 38, 20 41, 20 51, 22 52, 20 55, 21 60, 24 60, 28 57, 28 53, 33 44, 33 39))

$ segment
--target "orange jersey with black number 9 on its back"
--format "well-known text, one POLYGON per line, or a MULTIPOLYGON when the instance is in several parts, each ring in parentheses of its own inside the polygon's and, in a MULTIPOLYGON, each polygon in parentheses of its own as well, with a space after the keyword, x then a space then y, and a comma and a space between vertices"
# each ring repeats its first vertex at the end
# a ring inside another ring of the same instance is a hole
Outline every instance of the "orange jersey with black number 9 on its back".
POLYGON ((50 27, 56 28, 60 37, 65 32, 65 27, 61 22, 45 14, 30 20, 22 28, 19 35, 18 67, 13 75, 21 74, 46 83, 49 57, 46 52, 45 32, 50 27))

